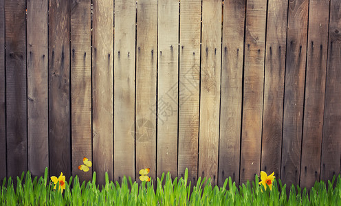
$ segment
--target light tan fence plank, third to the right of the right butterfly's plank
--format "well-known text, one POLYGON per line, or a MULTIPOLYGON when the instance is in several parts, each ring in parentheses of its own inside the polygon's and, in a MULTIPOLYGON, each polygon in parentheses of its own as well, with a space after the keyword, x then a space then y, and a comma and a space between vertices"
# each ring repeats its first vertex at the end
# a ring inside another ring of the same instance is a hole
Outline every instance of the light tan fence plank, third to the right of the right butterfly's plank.
POLYGON ((201 30, 199 176, 217 185, 221 77, 221 1, 204 0, 201 30))

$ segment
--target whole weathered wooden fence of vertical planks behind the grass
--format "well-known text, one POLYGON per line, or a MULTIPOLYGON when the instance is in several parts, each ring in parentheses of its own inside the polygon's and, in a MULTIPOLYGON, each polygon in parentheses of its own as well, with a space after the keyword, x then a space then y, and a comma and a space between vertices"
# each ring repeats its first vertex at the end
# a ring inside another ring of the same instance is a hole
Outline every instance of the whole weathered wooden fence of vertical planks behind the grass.
POLYGON ((311 187, 340 173, 340 79, 339 0, 0 0, 0 179, 311 187))

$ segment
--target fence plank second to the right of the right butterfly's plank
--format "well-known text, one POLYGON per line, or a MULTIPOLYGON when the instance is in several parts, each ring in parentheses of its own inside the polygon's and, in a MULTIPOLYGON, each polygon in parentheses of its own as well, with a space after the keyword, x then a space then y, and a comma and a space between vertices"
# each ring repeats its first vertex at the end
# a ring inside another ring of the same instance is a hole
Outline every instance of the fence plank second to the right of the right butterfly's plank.
POLYGON ((197 181, 201 1, 180 2, 178 176, 197 181))

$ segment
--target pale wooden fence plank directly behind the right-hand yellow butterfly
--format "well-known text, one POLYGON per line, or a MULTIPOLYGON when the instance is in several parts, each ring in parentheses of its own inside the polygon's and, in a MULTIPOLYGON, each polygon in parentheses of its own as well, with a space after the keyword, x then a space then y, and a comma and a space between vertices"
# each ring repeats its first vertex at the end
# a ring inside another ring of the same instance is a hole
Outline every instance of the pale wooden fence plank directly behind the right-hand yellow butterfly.
POLYGON ((136 36, 136 176, 156 173, 157 0, 137 1, 136 36))

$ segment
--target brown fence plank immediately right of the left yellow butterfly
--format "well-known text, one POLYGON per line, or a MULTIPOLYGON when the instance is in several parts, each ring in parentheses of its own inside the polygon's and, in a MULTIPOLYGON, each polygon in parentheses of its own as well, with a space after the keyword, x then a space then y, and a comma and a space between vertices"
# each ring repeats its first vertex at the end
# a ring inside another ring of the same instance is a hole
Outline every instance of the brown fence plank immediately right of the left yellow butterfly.
POLYGON ((113 1, 93 1, 93 171, 97 182, 113 180, 113 1))

